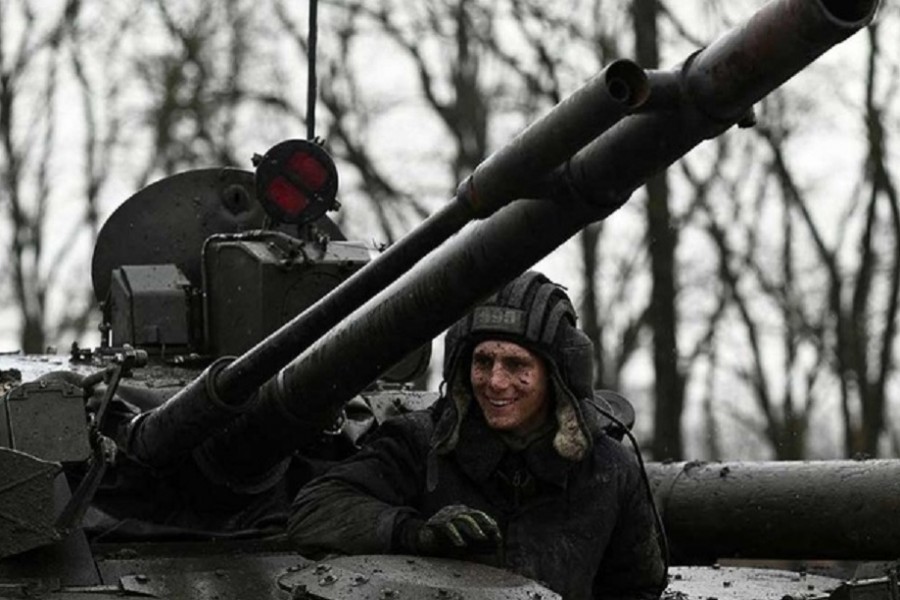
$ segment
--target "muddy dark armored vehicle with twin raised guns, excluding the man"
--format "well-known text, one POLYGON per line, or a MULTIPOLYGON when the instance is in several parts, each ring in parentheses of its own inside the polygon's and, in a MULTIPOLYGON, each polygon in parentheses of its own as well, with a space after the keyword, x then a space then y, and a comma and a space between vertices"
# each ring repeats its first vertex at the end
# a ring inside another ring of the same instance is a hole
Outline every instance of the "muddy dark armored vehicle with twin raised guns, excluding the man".
MULTIPOLYGON (((373 423, 435 400, 403 386, 433 337, 750 121, 876 5, 775 0, 671 71, 613 63, 380 253, 328 218, 337 171, 315 142, 278 144, 253 172, 192 171, 137 192, 94 254, 100 346, 3 357, 0 597, 557 598, 462 561, 315 561, 285 543, 285 511, 373 423)), ((667 597, 900 597, 898 470, 648 465, 681 565, 667 597), (748 559, 868 571, 845 581, 748 559)))

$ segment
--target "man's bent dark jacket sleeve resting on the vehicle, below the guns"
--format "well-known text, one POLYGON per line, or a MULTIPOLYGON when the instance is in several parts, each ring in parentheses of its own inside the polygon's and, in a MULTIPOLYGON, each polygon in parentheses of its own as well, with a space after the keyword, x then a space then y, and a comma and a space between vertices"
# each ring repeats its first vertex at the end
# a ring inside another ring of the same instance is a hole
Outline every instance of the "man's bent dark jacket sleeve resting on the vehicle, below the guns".
POLYGON ((431 416, 386 421, 356 455, 297 494, 288 537, 301 553, 386 554, 424 489, 431 416))

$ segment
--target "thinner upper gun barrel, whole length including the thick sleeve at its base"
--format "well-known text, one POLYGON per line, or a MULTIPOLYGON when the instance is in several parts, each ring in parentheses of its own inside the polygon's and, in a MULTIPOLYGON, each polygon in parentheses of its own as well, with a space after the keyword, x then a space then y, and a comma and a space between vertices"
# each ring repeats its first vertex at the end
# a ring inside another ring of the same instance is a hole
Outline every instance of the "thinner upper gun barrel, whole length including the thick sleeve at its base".
MULTIPOLYGON (((539 177, 637 109, 646 73, 628 60, 603 69, 480 164, 456 197, 309 309, 240 357, 219 360, 129 428, 129 453, 163 466, 247 407, 256 390, 341 319, 475 218, 526 195, 539 177), (524 175, 523 175, 524 174, 524 175)), ((367 382, 368 383, 368 382, 367 382)))

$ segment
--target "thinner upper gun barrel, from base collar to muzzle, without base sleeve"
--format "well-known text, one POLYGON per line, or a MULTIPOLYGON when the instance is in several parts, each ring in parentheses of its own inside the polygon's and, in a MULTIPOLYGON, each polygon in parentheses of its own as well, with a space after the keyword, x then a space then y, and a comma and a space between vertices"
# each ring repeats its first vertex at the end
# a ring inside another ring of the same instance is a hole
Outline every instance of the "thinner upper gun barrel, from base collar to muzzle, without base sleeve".
POLYGON ((226 401, 233 398, 232 403, 236 403, 255 392, 335 323, 466 223, 486 218, 528 195, 539 177, 639 109, 649 93, 647 75, 635 63, 622 59, 610 64, 478 165, 443 208, 308 310, 224 367, 216 378, 219 393, 225 395, 226 401))

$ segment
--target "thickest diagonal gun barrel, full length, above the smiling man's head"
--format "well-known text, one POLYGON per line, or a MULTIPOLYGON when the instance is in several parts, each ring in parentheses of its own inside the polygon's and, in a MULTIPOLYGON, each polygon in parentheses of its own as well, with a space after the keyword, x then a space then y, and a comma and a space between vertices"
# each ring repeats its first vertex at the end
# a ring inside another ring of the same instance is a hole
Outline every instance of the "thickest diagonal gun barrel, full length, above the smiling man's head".
POLYGON ((668 110, 623 119, 547 179, 539 195, 553 201, 515 202, 472 223, 337 324, 264 386, 257 406, 200 448, 207 470, 240 481, 272 468, 381 370, 735 124, 864 26, 876 6, 876 0, 778 0, 673 72, 654 75, 670 101, 660 108, 668 110))

